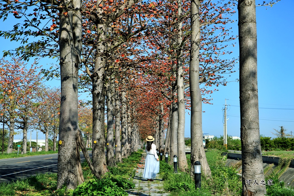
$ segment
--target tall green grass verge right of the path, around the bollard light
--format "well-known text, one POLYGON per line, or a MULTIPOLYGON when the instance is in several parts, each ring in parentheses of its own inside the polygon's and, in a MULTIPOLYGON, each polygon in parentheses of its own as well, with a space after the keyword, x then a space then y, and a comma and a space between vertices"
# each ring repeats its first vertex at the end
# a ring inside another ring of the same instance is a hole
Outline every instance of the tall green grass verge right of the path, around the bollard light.
MULTIPOLYGON (((201 176, 201 190, 195 190, 193 176, 185 172, 174 174, 171 165, 160 163, 160 175, 164 180, 163 187, 170 192, 170 196, 241 195, 242 180, 236 175, 235 167, 225 166, 226 156, 222 156, 219 150, 211 150, 206 152, 206 158, 211 169, 211 178, 207 179, 205 176, 201 176)), ((189 155, 187 155, 187 160, 189 163, 189 155)), ((281 159, 281 164, 279 164, 281 171, 287 167, 288 163, 289 159, 281 159)), ((266 182, 269 179, 273 180, 273 185, 266 185, 268 196, 294 196, 294 190, 284 187, 284 182, 278 180, 278 174, 267 177, 266 182)))

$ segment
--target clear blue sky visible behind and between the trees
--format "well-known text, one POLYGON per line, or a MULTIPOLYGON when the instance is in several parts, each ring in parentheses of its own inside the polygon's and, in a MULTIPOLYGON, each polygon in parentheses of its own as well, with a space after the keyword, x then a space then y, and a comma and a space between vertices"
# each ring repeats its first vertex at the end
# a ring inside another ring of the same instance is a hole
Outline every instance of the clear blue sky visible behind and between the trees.
MULTIPOLYGON (((261 3, 262 1, 256 1, 261 3)), ((294 135, 294 88, 292 78, 294 72, 294 17, 293 0, 283 0, 273 7, 256 7, 257 17, 257 41, 258 41, 258 98, 260 134, 275 137, 271 132, 284 126, 288 133, 294 135), (278 108, 278 109, 263 109, 278 108)), ((237 10, 236 10, 237 11, 237 10)), ((235 14, 238 18, 238 13, 235 14)), ((13 19, 1 22, 1 30, 11 27, 13 19)), ((233 25, 234 35, 238 34, 238 22, 233 25)), ((238 57, 238 40, 232 57, 238 57)), ((3 50, 16 48, 18 42, 12 43, 9 40, 0 38, 0 56, 3 50)), ((8 58, 7 58, 8 59, 8 58)), ((55 59, 54 59, 55 60, 55 59)), ((54 60, 41 60, 39 65, 50 66, 49 63, 56 63, 54 60)), ((238 65, 236 73, 232 74, 231 80, 239 78, 238 65)), ((59 81, 46 82, 49 86, 60 86, 59 81)), ((213 105, 203 104, 203 132, 209 135, 223 135, 223 108, 227 99, 227 121, 228 135, 240 136, 240 105, 239 83, 230 82, 227 86, 219 86, 217 92, 211 94, 213 105)), ((28 136, 30 134, 28 133, 28 136)), ((38 133, 38 138, 45 138, 44 134, 38 133)), ((190 115, 186 113, 185 137, 190 137, 190 115)), ((22 138, 16 135, 15 139, 22 138)), ((32 139, 36 139, 36 132, 32 133, 32 139)))

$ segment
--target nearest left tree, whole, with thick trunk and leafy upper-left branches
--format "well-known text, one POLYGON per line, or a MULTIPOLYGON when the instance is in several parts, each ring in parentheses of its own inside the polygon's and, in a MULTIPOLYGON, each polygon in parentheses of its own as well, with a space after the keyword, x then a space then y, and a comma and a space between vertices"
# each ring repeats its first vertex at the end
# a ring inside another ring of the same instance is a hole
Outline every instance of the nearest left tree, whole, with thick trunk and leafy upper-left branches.
MULTIPOLYGON (((25 18, 24 26, 16 24, 12 31, 0 32, 1 36, 20 40, 22 43, 27 43, 31 35, 44 38, 19 47, 15 51, 17 55, 21 55, 24 59, 38 55, 54 55, 59 56, 60 59, 61 107, 57 188, 66 184, 67 188, 74 189, 83 181, 79 147, 82 148, 94 175, 100 177, 92 167, 78 128, 78 69, 82 50, 81 12, 81 0, 30 1, 29 3, 5 1, 1 4, 0 18, 5 20, 9 14, 13 14, 18 19, 25 18), (33 7, 33 10, 29 7, 33 7), (53 24, 47 23, 48 20, 53 24), (44 23, 52 25, 43 27, 44 23), (77 142, 73 142, 76 140, 77 142)), ((8 54, 9 52, 6 52, 4 55, 8 54)))

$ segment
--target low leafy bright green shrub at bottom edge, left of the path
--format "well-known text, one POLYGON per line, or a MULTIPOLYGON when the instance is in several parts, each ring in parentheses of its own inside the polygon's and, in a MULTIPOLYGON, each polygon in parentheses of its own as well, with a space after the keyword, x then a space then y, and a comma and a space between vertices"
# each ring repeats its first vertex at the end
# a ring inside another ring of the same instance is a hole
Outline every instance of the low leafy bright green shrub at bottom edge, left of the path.
POLYGON ((109 178, 98 180, 96 178, 90 179, 81 185, 78 185, 73 192, 73 196, 127 196, 122 187, 118 187, 116 182, 111 181, 109 178))

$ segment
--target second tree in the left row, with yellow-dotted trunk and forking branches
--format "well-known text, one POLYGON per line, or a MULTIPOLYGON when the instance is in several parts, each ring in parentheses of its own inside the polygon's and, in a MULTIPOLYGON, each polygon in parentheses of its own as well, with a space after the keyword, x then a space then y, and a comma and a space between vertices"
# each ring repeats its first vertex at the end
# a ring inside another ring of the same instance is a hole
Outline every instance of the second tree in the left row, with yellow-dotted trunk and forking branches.
MULTIPOLYGON (((88 29, 87 33, 93 32, 92 38, 96 41, 93 43, 95 49, 95 61, 93 66, 93 72, 88 72, 89 77, 92 80, 92 95, 93 95, 93 165, 98 169, 99 174, 104 174, 107 170, 104 154, 104 80, 105 69, 107 67, 107 56, 114 48, 121 45, 131 36, 136 35, 144 28, 141 26, 139 29, 133 29, 132 22, 129 20, 125 24, 128 24, 126 32, 116 32, 118 36, 111 39, 108 38, 108 32, 111 28, 111 24, 114 23, 125 12, 128 13, 130 8, 133 8, 138 0, 130 0, 125 2, 113 1, 104 2, 97 1, 88 2, 86 13, 88 14, 88 21, 93 24, 93 29, 88 29), (95 4, 96 3, 96 4, 95 4), (93 14, 91 14, 93 13, 93 14), (103 161, 101 161, 103 160, 103 161)), ((134 7, 133 9, 137 9, 134 7)), ((127 18, 127 17, 126 17, 127 18)), ((140 25, 139 25, 140 26, 140 25)))

